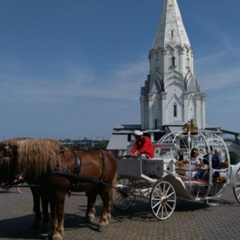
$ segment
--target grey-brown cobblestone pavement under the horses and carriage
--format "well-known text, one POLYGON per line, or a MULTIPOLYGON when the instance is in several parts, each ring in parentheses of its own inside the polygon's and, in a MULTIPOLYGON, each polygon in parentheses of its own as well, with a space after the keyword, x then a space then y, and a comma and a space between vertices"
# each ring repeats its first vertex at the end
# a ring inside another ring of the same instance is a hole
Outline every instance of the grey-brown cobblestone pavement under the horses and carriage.
MULTIPOLYGON (((0 190, 0 239, 46 239, 46 234, 31 231, 33 221, 32 196, 29 188, 9 192, 0 190)), ((173 215, 166 221, 157 220, 146 200, 137 199, 125 212, 113 211, 110 225, 103 232, 97 225, 84 222, 86 197, 84 193, 66 197, 65 236, 69 240, 156 240, 156 239, 239 239, 240 204, 227 187, 213 205, 178 199, 173 215)), ((101 202, 97 214, 101 210, 101 202)), ((99 218, 98 218, 99 219, 99 218)), ((98 222, 96 220, 96 223, 98 222)))

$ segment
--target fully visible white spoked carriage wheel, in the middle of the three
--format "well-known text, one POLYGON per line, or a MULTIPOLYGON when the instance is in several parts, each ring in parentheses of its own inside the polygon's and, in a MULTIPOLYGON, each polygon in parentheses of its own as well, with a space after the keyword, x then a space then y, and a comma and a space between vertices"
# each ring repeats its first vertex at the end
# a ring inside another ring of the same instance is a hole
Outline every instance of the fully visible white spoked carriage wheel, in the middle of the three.
POLYGON ((152 189, 150 205, 156 218, 160 220, 168 219, 174 212, 176 202, 176 192, 171 183, 160 181, 152 189))

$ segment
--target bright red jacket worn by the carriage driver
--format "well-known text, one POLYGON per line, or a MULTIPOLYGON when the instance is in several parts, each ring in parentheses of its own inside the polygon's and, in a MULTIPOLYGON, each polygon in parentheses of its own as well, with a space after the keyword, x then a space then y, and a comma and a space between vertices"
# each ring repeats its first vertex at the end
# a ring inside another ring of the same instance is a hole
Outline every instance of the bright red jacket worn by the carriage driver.
POLYGON ((137 140, 131 150, 131 153, 135 153, 136 151, 138 151, 139 153, 145 153, 150 158, 153 158, 154 157, 154 148, 153 148, 150 138, 143 136, 140 140, 137 140))

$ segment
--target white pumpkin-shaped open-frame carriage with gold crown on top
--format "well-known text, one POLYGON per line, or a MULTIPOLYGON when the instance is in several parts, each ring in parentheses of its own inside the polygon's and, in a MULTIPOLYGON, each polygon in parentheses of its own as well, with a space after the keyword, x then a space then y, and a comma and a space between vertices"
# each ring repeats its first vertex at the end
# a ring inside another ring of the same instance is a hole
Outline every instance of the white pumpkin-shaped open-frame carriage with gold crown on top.
POLYGON ((240 163, 230 165, 228 149, 216 133, 185 125, 183 131, 165 135, 154 144, 154 148, 152 159, 118 159, 119 183, 114 201, 117 209, 127 210, 136 197, 143 197, 149 199, 154 216, 165 220, 173 214, 177 197, 208 201, 219 198, 227 185, 233 187, 240 202, 240 163), (206 165, 189 164, 187 159, 190 159, 193 147, 198 148, 203 156, 206 147, 209 149, 210 146, 219 154, 221 169, 213 169, 211 161, 206 165), (214 177, 216 171, 218 174, 214 177), (196 177, 196 172, 202 172, 202 177, 196 177))

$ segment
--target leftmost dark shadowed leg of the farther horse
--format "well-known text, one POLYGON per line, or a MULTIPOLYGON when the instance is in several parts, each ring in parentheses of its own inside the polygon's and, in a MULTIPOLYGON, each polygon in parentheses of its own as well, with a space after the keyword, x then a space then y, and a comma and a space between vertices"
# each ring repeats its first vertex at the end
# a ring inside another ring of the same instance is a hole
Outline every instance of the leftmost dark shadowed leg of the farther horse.
POLYGON ((36 187, 31 187, 31 192, 33 196, 33 211, 35 212, 35 219, 31 226, 31 230, 37 230, 40 227, 42 220, 41 209, 40 209, 40 192, 36 187))

